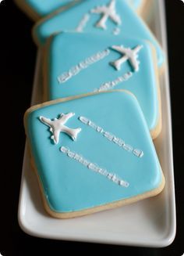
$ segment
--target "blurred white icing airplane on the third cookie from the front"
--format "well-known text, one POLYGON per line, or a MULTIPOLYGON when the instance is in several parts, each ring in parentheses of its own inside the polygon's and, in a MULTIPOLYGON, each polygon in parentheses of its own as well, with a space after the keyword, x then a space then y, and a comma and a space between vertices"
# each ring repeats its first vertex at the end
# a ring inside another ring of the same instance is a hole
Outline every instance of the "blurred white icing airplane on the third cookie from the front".
POLYGON ((110 18, 117 24, 121 24, 120 16, 115 12, 115 0, 111 0, 108 5, 97 6, 97 8, 92 9, 91 13, 99 13, 101 14, 101 20, 99 20, 96 24, 96 27, 101 27, 106 29, 106 21, 110 18))

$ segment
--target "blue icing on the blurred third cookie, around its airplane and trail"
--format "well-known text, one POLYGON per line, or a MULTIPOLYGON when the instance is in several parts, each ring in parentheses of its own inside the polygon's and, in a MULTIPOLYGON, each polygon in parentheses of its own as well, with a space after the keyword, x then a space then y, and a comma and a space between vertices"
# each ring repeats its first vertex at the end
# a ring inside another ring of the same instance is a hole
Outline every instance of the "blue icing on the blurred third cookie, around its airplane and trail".
POLYGON ((115 28, 120 28, 120 33, 127 36, 133 36, 135 38, 143 38, 151 41, 157 51, 158 65, 161 66, 164 63, 164 54, 161 46, 157 43, 154 35, 147 28, 147 25, 143 20, 133 11, 133 9, 126 3, 125 0, 116 0, 115 9, 117 14, 121 17, 122 24, 117 26, 111 19, 106 22, 107 29, 103 30, 96 27, 96 23, 101 20, 101 14, 90 13, 90 10, 101 5, 108 5, 110 0, 85 0, 80 5, 75 5, 72 9, 68 9, 65 12, 58 13, 52 16, 48 20, 39 22, 34 27, 34 38, 41 45, 44 45, 46 39, 51 34, 58 31, 73 31, 78 27, 83 16, 90 14, 90 19, 87 21, 86 26, 83 28, 84 32, 110 33, 113 34, 115 28))

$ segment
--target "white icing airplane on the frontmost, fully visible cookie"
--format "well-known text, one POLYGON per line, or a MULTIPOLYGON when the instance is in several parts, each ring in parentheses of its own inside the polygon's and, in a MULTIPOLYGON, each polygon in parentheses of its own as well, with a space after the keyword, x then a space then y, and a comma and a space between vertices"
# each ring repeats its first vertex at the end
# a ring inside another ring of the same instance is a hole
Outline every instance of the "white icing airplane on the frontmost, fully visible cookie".
POLYGON ((50 127, 50 132, 53 134, 51 139, 54 140, 55 144, 58 144, 60 132, 65 132, 73 140, 76 140, 77 135, 81 132, 81 128, 72 129, 64 125, 73 116, 75 116, 75 113, 60 114, 60 117, 55 118, 54 121, 46 117, 40 117, 40 121, 50 127))

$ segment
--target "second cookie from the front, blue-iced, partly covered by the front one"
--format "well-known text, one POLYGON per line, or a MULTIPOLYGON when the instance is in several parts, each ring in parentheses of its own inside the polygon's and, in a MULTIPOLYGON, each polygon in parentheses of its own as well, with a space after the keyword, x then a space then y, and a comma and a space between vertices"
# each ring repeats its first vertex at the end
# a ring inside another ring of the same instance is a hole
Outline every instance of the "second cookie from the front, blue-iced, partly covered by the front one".
POLYGON ((110 89, 138 99, 153 138, 161 131, 154 48, 122 35, 61 33, 49 40, 44 59, 44 100, 110 89))

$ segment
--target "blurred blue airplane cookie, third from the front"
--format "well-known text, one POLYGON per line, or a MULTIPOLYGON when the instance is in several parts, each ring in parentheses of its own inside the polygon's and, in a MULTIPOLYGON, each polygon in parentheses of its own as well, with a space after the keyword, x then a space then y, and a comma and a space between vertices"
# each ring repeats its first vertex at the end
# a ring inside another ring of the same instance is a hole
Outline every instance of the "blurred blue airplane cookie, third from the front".
POLYGON ((126 0, 85 0, 62 13, 55 13, 39 21, 34 27, 34 39, 44 45, 47 38, 59 31, 118 34, 142 38, 154 45, 157 63, 161 67, 164 56, 160 45, 143 20, 137 16, 126 0))

